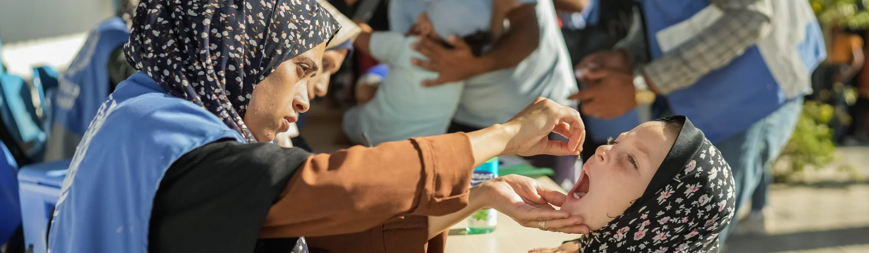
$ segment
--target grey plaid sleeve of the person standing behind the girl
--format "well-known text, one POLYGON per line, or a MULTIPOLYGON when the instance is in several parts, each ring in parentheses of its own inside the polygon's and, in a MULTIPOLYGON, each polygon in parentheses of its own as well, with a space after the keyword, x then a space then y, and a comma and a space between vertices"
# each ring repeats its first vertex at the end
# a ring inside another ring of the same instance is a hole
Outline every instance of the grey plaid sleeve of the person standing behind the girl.
MULTIPOLYGON (((697 82, 713 70, 718 70, 743 52, 771 29, 773 10, 766 0, 712 0, 723 15, 698 36, 687 40, 663 57, 646 65, 634 64, 661 95, 680 90, 697 82)), ((654 36, 654 35, 648 35, 654 36)), ((627 39, 627 38, 626 38, 627 39)), ((631 57, 645 54, 632 43, 622 43, 631 57), (628 46, 630 45, 630 46, 628 46)))

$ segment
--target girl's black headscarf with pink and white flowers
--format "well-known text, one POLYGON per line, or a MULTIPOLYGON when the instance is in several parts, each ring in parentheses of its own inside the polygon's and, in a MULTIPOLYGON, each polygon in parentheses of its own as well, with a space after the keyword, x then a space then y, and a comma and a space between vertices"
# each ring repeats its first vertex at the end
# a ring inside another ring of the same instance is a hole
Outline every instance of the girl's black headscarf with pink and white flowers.
POLYGON ((673 148, 630 208, 580 240, 581 252, 718 252, 734 215, 730 166, 684 116, 673 148))

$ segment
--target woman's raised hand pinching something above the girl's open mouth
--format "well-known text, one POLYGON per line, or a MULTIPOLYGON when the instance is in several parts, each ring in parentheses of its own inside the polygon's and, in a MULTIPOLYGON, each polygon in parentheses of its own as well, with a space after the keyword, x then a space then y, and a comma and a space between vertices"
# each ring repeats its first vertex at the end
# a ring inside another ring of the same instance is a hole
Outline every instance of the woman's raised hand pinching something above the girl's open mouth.
POLYGON ((582 143, 586 138, 579 111, 543 97, 538 97, 504 126, 514 131, 505 153, 520 156, 576 156, 582 151, 582 143), (558 133, 569 141, 551 141, 548 138, 550 132, 558 133))

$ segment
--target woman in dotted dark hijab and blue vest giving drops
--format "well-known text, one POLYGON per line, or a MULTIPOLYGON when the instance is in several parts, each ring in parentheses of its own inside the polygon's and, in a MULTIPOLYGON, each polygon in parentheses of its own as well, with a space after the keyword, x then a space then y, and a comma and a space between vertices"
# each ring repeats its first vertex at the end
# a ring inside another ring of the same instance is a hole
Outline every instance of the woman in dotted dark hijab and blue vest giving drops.
MULTIPOLYGON (((50 252, 300 252, 302 236, 402 216, 430 216, 419 230, 448 227, 437 216, 475 197, 510 207, 525 226, 545 219, 547 229, 577 231, 577 217, 534 208, 564 199, 553 191, 468 190, 473 168, 493 156, 579 151, 579 113, 546 99, 467 134, 315 156, 269 143, 308 110, 306 82, 338 29, 313 0, 139 3, 125 46, 139 72, 109 95, 76 149, 50 252), (547 141, 551 131, 570 142, 547 141)), ((385 234, 360 252, 395 246, 385 234)))

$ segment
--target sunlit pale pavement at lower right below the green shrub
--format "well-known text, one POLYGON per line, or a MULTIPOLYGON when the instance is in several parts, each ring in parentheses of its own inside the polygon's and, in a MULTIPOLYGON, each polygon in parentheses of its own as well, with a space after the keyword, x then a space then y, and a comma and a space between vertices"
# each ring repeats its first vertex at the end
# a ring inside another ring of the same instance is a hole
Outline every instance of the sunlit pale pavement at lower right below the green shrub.
MULTIPOLYGON (((869 176, 869 147, 839 148, 840 163, 869 176)), ((734 235, 728 253, 869 252, 869 183, 847 173, 812 173, 814 182, 775 184, 766 235, 734 235)))

